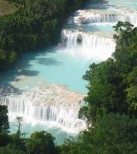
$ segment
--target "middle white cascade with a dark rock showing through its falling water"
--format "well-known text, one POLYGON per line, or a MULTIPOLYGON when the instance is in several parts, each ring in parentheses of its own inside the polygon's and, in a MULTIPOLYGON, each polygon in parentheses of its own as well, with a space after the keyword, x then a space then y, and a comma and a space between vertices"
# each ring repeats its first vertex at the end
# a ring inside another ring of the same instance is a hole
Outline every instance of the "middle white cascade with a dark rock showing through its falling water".
POLYGON ((115 42, 112 38, 66 29, 62 30, 62 46, 66 47, 67 54, 83 57, 86 60, 105 60, 115 50, 115 42))

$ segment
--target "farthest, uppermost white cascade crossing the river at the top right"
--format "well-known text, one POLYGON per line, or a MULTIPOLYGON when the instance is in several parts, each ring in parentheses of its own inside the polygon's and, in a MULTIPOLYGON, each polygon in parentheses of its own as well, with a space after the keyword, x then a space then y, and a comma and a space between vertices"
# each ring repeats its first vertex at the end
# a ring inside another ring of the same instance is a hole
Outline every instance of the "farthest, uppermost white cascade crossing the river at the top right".
POLYGON ((137 12, 115 11, 102 13, 101 11, 94 10, 79 10, 76 15, 69 18, 69 24, 115 24, 118 21, 128 21, 134 25, 137 25, 137 12))

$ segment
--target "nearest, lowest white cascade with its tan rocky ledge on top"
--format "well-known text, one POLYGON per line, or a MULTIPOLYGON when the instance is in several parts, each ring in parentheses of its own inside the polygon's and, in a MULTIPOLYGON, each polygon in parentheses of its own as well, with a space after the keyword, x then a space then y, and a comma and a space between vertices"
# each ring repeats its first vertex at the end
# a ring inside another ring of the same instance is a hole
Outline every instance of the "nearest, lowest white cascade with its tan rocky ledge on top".
POLYGON ((1 96, 1 104, 8 106, 10 119, 22 116, 32 124, 54 122, 55 125, 77 133, 86 128, 84 120, 78 119, 79 102, 83 97, 61 86, 52 85, 21 95, 1 96))

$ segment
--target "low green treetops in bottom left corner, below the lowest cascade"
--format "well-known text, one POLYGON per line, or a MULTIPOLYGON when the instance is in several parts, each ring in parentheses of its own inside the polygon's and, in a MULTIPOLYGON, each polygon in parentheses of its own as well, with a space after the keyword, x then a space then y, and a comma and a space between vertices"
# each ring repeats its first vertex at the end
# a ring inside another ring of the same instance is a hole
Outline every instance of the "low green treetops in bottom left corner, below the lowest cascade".
POLYGON ((31 134, 30 138, 21 138, 16 134, 0 133, 0 154, 58 154, 51 134, 41 131, 31 134))

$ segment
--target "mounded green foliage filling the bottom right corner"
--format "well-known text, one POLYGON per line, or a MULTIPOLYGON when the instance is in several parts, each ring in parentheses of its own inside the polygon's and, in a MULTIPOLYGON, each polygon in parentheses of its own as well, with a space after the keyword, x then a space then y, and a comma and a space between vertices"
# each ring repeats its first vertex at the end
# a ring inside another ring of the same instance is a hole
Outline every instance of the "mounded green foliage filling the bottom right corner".
POLYGON ((136 130, 137 119, 108 114, 81 134, 81 151, 87 151, 87 154, 136 154, 136 130))

